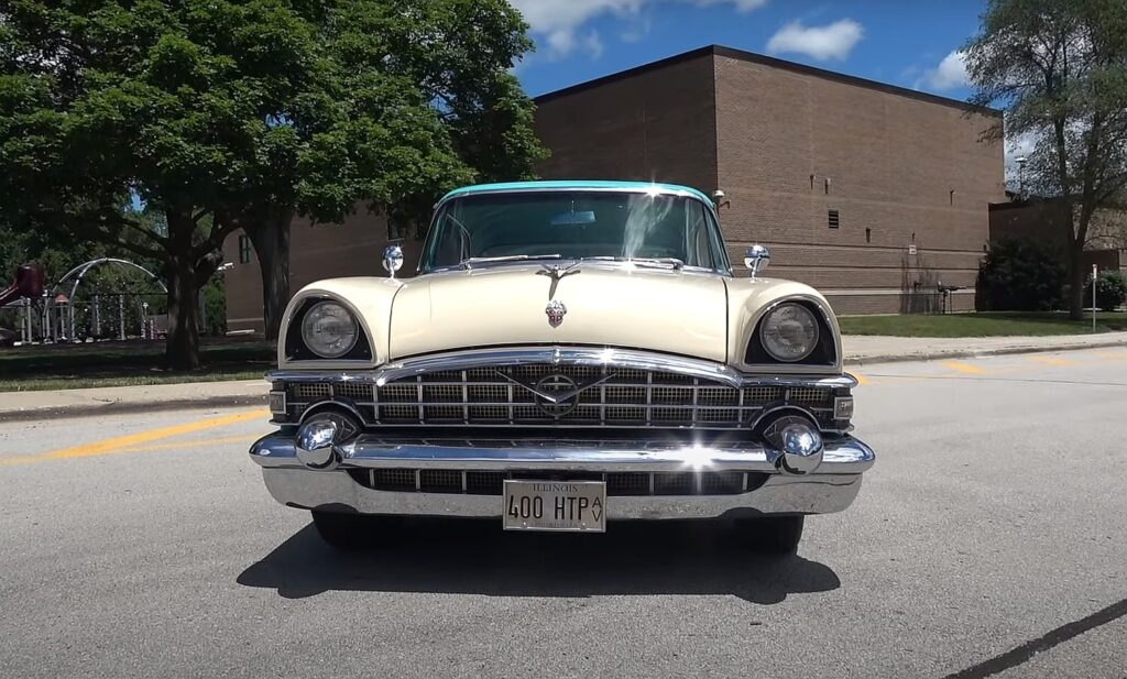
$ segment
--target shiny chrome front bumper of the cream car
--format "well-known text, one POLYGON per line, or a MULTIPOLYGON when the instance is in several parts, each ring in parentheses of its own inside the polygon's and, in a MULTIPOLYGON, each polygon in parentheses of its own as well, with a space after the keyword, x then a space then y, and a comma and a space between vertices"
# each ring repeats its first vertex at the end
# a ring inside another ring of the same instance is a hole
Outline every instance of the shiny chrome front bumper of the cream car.
POLYGON ((349 468, 444 468, 536 472, 684 472, 744 471, 771 474, 760 488, 722 495, 615 495, 607 499, 611 519, 690 519, 726 516, 829 513, 848 508, 861 488, 861 474, 875 455, 851 438, 826 441, 813 473, 779 473, 779 453, 757 445, 685 446, 647 441, 396 441, 361 436, 341 446, 334 471, 305 467, 294 439, 275 434, 258 440, 251 459, 263 466, 270 494, 302 509, 376 515, 497 517, 497 495, 371 490, 349 468))

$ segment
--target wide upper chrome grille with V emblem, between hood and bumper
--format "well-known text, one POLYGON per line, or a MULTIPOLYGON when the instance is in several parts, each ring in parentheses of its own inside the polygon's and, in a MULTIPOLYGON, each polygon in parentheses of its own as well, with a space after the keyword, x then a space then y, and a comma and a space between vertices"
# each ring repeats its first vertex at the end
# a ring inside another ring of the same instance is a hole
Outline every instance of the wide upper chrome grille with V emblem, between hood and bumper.
POLYGON ((367 425, 415 427, 736 429, 775 404, 800 406, 827 425, 833 418, 828 387, 736 387, 677 373, 551 364, 440 370, 384 384, 291 383, 287 421, 325 400, 350 402, 367 425))

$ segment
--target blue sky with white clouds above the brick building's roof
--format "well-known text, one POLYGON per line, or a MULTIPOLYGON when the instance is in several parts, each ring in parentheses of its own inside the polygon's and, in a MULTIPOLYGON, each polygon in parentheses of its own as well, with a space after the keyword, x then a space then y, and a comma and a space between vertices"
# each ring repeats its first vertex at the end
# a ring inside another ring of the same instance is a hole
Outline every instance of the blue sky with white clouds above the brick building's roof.
POLYGON ((965 99, 968 0, 511 0, 536 52, 516 70, 536 96, 719 44, 965 99))

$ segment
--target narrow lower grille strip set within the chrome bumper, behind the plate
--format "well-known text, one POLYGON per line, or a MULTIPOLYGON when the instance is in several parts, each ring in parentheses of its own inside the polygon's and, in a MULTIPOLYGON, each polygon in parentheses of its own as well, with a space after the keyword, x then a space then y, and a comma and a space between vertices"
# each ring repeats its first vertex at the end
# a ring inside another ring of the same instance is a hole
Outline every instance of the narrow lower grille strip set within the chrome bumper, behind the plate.
POLYGON ((603 481, 614 495, 735 495, 763 485, 760 472, 469 472, 459 470, 349 470, 364 488, 381 491, 500 495, 506 479, 603 481))

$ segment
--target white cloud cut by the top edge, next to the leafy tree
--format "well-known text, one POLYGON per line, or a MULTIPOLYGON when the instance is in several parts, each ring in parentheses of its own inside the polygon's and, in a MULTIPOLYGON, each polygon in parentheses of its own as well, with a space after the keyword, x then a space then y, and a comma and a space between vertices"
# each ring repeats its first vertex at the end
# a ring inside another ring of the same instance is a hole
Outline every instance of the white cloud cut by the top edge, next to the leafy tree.
MULTIPOLYGON (((592 59, 603 53, 602 37, 594 29, 584 32, 587 21, 603 16, 638 17, 647 7, 689 2, 698 7, 728 5, 737 11, 748 12, 767 3, 767 0, 509 0, 524 15, 538 44, 547 46, 549 56, 559 59, 582 51, 592 59)), ((628 34, 632 39, 640 34, 628 34)))

